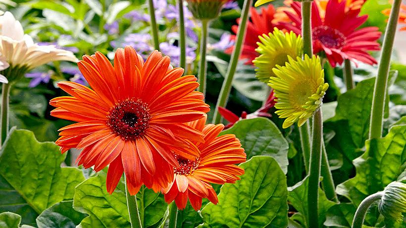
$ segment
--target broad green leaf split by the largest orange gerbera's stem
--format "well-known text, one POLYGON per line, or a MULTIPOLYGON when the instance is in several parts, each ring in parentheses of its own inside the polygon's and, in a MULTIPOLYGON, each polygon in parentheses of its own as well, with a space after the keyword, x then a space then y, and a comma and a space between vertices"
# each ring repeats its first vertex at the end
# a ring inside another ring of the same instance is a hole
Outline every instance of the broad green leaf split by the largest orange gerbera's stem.
MULTIPOLYGON (((120 181, 110 195, 105 183, 106 173, 100 171, 75 188, 73 208, 89 216, 82 220, 82 228, 130 228, 125 185, 120 181)), ((137 194, 140 219, 143 227, 157 224, 166 212, 167 204, 163 196, 143 186, 137 194)))

